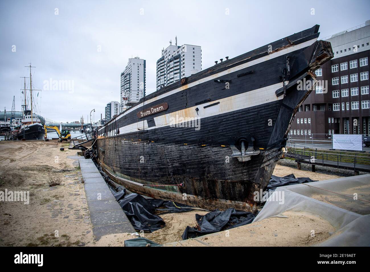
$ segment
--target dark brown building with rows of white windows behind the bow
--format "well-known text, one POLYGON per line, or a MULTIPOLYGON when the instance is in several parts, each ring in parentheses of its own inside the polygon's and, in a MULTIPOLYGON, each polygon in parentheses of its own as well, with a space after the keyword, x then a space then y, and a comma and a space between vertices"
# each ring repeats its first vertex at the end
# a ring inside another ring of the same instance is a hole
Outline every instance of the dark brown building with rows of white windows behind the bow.
POLYGON ((370 20, 325 40, 332 44, 334 57, 316 70, 319 84, 303 101, 289 133, 293 138, 312 133, 369 135, 370 20))

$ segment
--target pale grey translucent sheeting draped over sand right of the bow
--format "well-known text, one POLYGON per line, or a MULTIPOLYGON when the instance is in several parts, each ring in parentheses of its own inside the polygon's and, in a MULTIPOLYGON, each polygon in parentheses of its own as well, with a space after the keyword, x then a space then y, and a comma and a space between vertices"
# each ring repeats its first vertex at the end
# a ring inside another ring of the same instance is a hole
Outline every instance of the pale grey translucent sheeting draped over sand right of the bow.
POLYGON ((360 200, 363 198, 369 201, 369 197, 366 193, 362 194, 359 191, 360 188, 366 189, 369 186, 369 180, 370 175, 367 174, 312 182, 309 184, 310 186, 296 184, 276 188, 253 223, 269 217, 279 217, 285 211, 304 211, 319 215, 336 229, 334 234, 317 246, 370 246, 370 229, 368 227, 370 216, 367 214, 369 204, 360 200), (359 192, 359 199, 354 200, 339 195, 351 195, 348 191, 359 192), (326 201, 331 203, 329 204, 313 198, 318 194, 326 197, 333 195, 336 198, 333 200, 327 198, 326 201), (279 199, 276 195, 283 196, 283 202, 274 201, 273 199, 279 199), (338 201, 339 197, 341 197, 340 201, 338 201), (353 211, 361 212, 364 215, 353 211))

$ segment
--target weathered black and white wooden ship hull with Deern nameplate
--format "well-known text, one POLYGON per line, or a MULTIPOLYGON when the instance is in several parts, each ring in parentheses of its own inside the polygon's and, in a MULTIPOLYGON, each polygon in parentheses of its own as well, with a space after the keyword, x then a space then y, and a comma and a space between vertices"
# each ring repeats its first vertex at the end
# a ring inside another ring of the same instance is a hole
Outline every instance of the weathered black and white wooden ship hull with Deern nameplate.
MULTIPOLYGON (((319 26, 222 61, 142 98, 98 130, 97 161, 128 190, 254 211, 314 71, 333 57, 319 26), (194 121, 193 121, 194 120, 194 121)), ((313 86, 314 88, 314 86, 313 86)))

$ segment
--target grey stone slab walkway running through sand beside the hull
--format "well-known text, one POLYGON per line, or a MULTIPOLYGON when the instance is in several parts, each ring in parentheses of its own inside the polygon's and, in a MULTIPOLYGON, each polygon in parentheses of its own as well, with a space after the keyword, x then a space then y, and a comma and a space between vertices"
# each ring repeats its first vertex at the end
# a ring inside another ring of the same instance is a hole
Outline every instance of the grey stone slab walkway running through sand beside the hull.
POLYGON ((85 180, 87 205, 95 238, 100 239, 107 234, 136 232, 94 162, 80 157, 78 163, 85 180))

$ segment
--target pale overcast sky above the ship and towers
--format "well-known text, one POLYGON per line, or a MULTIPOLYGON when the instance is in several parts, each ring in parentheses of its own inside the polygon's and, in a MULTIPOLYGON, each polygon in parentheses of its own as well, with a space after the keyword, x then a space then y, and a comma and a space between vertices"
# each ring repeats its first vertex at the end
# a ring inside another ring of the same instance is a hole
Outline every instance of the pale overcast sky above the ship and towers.
MULTIPOLYGON (((202 47, 202 70, 295 32, 320 25, 320 38, 370 19, 370 1, 7 1, 0 2, 0 110, 21 110, 24 66, 42 91, 40 114, 56 121, 95 121, 120 102, 128 58, 147 60, 147 94, 169 40, 202 47), (57 9, 57 10, 55 10, 57 9), (312 15, 314 9, 314 15, 312 15), (56 15, 57 13, 57 15, 56 15), (15 46, 15 47, 14 47, 15 46), (15 52, 14 52, 15 51, 15 52), (44 81, 68 81, 53 90, 44 81), (72 85, 73 84, 73 85, 72 85), (73 90, 72 90, 73 87, 73 90), (72 91, 71 91, 72 90, 72 91)), ((41 98, 41 99, 40 99, 41 98)))

